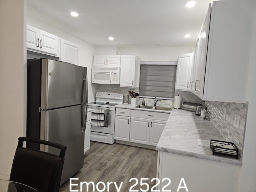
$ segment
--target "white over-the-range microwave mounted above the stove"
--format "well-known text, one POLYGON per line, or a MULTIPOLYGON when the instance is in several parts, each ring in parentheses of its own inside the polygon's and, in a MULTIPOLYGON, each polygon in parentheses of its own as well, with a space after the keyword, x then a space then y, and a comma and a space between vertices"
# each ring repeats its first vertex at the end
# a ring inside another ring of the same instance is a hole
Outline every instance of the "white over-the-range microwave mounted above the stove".
POLYGON ((120 84, 120 72, 113 70, 92 70, 92 83, 120 84))

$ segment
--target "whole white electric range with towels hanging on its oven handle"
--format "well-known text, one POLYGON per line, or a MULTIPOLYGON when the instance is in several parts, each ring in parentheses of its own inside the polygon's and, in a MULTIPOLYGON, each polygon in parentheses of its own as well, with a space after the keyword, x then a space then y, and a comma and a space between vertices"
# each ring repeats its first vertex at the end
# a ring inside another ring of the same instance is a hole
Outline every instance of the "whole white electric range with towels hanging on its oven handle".
POLYGON ((96 102, 88 103, 92 109, 91 141, 113 144, 115 127, 115 106, 123 103, 123 94, 97 92, 96 102))

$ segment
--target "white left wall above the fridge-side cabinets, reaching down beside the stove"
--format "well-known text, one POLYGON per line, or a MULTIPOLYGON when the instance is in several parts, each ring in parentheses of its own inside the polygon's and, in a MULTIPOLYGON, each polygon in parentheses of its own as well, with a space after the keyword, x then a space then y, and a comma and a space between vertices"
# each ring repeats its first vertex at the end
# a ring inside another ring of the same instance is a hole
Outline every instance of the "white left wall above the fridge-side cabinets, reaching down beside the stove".
POLYGON ((79 45, 79 65, 87 67, 88 102, 93 102, 94 96, 96 94, 96 86, 94 86, 94 84, 91 83, 92 82, 92 59, 94 55, 94 46, 78 38, 75 38, 74 36, 67 34, 62 30, 59 30, 39 20, 36 20, 35 18, 32 18, 30 16, 27 16, 27 24, 79 45))

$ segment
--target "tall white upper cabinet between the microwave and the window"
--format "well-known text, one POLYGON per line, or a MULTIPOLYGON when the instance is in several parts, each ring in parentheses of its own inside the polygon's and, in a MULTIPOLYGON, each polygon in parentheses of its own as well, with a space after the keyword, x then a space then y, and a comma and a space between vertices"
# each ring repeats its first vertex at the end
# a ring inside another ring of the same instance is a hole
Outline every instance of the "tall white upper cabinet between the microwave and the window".
POLYGON ((140 58, 135 55, 121 56, 120 87, 138 87, 140 58))

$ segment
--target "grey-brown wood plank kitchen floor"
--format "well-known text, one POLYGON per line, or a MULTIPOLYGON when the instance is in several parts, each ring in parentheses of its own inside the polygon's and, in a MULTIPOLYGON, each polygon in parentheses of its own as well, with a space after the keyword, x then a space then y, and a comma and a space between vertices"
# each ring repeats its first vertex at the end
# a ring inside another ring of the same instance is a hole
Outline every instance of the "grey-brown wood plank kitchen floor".
MULTIPOLYGON (((135 180, 129 181, 131 178, 139 180, 139 184, 132 189, 146 189, 146 186, 140 186, 140 178, 148 178, 148 181, 144 180, 143 182, 148 183, 151 189, 155 180, 153 182, 150 180, 156 178, 156 166, 157 151, 155 150, 116 143, 90 142, 90 150, 84 156, 84 167, 73 176, 73 178, 79 178, 79 180, 72 181, 72 184, 78 184, 78 186, 72 186, 71 189, 79 192, 94 192, 97 191, 96 184, 98 184, 98 188, 102 191, 105 184, 104 192, 117 192, 114 182, 118 188, 123 182, 120 192, 128 192, 130 187, 135 184, 135 180), (95 190, 93 190, 92 184, 88 185, 88 190, 86 184, 83 184, 82 190, 80 190, 80 182, 94 182, 95 190), (109 190, 108 182, 113 182, 109 185, 109 190)), ((69 192, 71 189, 70 182, 67 181, 60 186, 59 192, 69 192)))

